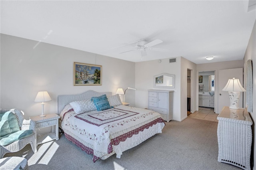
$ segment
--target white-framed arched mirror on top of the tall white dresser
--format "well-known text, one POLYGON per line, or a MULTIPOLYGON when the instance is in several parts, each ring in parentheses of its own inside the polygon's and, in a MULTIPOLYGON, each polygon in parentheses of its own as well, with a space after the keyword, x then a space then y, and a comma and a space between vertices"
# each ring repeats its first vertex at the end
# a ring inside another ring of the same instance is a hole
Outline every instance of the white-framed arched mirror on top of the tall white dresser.
POLYGON ((175 75, 161 73, 154 76, 154 88, 174 89, 175 75))

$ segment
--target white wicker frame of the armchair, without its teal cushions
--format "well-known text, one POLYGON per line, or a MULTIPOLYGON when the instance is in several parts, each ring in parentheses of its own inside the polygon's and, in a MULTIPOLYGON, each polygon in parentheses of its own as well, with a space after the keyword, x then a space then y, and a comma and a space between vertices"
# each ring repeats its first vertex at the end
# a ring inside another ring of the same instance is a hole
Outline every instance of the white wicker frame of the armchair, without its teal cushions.
POLYGON ((17 140, 15 142, 12 142, 6 146, 0 146, 0 158, 3 158, 4 154, 8 152, 18 152, 29 143, 31 145, 33 152, 36 153, 36 123, 32 120, 25 120, 22 114, 23 112, 18 109, 0 109, 1 113, 7 111, 11 111, 16 115, 21 130, 31 129, 33 130, 33 134, 28 137, 17 140))

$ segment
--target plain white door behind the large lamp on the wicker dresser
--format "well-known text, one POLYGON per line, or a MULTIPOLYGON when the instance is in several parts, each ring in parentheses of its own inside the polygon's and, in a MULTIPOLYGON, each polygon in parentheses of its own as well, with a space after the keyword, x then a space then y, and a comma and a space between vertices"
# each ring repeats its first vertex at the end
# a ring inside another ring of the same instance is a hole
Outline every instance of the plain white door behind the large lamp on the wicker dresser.
MULTIPOLYGON (((225 85, 228 83, 228 79, 235 77, 239 79, 241 85, 243 84, 243 68, 237 69, 223 69, 219 70, 219 79, 218 79, 218 113, 221 112, 224 106, 229 106, 230 101, 228 97, 228 91, 222 91, 225 85)), ((216 97, 216 94, 215 94, 216 97)), ((240 94, 239 107, 243 107, 243 93, 240 94)))

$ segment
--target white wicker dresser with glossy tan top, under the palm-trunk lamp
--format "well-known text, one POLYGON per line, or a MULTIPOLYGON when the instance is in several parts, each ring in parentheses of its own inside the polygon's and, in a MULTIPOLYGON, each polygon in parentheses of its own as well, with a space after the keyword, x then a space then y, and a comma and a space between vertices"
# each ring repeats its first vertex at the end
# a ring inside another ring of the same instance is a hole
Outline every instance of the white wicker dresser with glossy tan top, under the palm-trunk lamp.
POLYGON ((247 109, 224 107, 218 119, 218 162, 250 170, 252 119, 247 109))

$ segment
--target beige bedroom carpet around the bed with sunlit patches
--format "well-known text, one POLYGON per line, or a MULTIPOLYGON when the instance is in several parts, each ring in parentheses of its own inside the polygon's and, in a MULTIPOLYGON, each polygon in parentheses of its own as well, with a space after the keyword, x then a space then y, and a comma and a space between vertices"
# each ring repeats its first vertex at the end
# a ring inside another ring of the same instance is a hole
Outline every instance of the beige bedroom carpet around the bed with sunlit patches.
POLYGON ((7 156, 22 156, 29 170, 240 170, 217 161, 217 122, 186 118, 166 123, 156 134, 138 146, 106 160, 92 162, 92 155, 69 142, 64 135, 38 145, 34 154, 30 145, 7 156))

